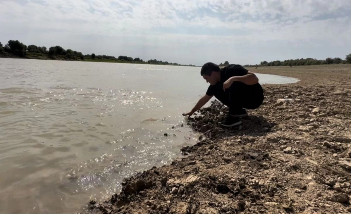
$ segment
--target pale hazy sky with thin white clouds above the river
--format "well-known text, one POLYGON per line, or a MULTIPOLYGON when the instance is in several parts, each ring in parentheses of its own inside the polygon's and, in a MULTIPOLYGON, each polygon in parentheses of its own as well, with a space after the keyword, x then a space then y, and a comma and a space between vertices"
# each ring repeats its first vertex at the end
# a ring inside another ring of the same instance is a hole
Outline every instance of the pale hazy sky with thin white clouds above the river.
POLYGON ((351 53, 351 0, 0 0, 0 42, 201 66, 351 53))

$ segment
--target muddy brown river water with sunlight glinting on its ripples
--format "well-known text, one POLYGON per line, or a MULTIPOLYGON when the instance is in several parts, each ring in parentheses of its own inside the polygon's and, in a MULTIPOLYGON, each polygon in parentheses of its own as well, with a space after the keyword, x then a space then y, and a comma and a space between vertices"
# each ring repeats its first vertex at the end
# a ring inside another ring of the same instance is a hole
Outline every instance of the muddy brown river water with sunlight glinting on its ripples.
POLYGON ((181 113, 206 92, 199 71, 0 59, 0 213, 79 212, 123 178, 180 156, 197 139, 181 113))

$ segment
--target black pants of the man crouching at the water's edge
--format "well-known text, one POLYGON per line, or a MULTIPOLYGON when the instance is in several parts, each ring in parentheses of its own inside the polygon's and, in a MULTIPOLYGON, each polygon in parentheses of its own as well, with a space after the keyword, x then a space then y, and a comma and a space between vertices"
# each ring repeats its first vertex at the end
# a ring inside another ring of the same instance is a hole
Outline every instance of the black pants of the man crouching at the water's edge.
POLYGON ((233 82, 224 92, 224 100, 220 100, 229 107, 229 114, 236 115, 242 108, 256 109, 263 103, 263 89, 259 83, 246 85, 242 82, 233 82))

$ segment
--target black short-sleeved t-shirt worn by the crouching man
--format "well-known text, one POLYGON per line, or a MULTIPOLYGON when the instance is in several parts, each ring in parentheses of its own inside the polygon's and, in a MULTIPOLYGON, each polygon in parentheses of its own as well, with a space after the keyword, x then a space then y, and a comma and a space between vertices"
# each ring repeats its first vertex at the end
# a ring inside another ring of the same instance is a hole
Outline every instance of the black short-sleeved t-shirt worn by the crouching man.
MULTIPOLYGON (((248 70, 241 65, 229 65, 220 69, 220 81, 212 86, 208 86, 206 94, 208 96, 215 96, 219 101, 223 104, 227 105, 229 102, 229 90, 223 90, 223 83, 227 81, 232 76, 244 76, 246 75, 248 70)), ((252 87, 252 89, 257 88, 258 90, 262 90, 262 87, 259 83, 255 85, 251 85, 248 87, 252 87)))

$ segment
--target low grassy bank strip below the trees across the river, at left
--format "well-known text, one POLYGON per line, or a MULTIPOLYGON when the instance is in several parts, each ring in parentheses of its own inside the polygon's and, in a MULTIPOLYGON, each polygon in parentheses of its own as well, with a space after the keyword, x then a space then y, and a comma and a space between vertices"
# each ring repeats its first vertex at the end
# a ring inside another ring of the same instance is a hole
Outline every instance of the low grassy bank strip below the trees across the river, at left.
MULTIPOLYGON (((53 55, 49 56, 48 54, 40 54, 40 53, 27 53, 25 57, 19 57, 11 53, 7 52, 0 52, 0 58, 11 58, 11 59, 38 59, 38 60, 59 60, 59 61, 80 61, 80 62, 110 62, 110 63, 128 63, 128 64, 145 64, 145 65, 163 65, 158 63, 148 63, 148 62, 135 62, 135 61, 125 61, 125 60, 113 60, 113 59, 91 59, 91 58, 84 58, 81 59, 67 59, 64 56, 60 55, 53 55)), ((198 67, 196 65, 174 65, 174 64, 166 64, 170 66, 189 66, 189 67, 198 67)))

